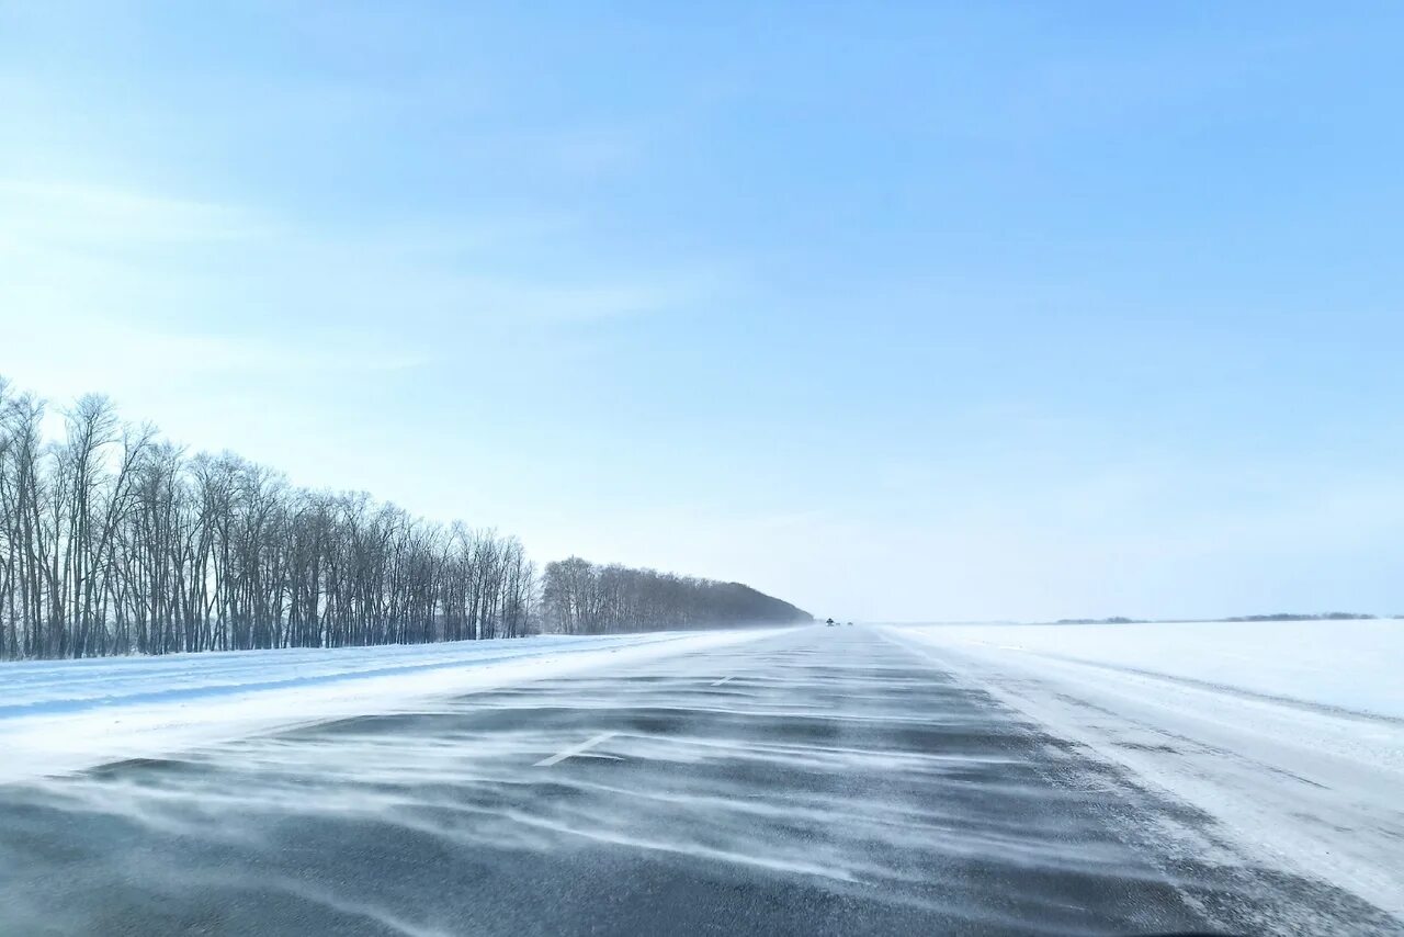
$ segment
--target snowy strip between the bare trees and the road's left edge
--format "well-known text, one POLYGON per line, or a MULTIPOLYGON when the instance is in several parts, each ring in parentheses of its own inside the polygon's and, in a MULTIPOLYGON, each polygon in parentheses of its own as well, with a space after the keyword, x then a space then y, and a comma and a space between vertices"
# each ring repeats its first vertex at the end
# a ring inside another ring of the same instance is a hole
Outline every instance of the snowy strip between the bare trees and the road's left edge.
POLYGON ((0 784, 783 629, 539 636, 0 664, 0 784))

